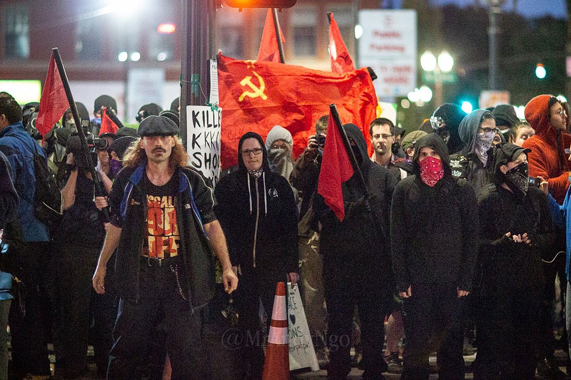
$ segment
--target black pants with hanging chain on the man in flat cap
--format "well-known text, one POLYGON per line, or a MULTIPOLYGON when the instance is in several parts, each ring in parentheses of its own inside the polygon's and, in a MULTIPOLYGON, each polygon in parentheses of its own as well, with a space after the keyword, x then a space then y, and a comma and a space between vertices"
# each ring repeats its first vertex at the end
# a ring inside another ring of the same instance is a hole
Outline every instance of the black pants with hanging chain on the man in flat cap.
MULTIPOLYGON (((176 264, 140 264, 139 302, 119 300, 109 357, 108 379, 135 378, 135 367, 149 350, 151 332, 166 318, 167 351, 173 380, 208 379, 208 361, 203 345, 204 310, 191 314, 189 301, 179 294, 173 270, 176 264)), ((183 273, 179 273, 184 284, 183 273)))

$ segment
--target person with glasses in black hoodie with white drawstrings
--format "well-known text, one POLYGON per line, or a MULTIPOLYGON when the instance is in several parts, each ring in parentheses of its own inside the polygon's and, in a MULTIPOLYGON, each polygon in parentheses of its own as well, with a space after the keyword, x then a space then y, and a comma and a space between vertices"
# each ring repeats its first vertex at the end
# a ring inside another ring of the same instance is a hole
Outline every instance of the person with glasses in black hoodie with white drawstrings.
POLYGON ((264 354, 259 300, 268 316, 268 331, 276 284, 291 280, 295 285, 299 279, 297 208, 288 181, 270 170, 260 135, 244 134, 238 152, 238 170, 216 185, 215 213, 228 240, 232 268, 240 274, 235 296, 239 328, 244 342, 246 337, 254 337, 254 341, 240 347, 243 369, 248 371, 250 367, 250 378, 261 379, 264 354))

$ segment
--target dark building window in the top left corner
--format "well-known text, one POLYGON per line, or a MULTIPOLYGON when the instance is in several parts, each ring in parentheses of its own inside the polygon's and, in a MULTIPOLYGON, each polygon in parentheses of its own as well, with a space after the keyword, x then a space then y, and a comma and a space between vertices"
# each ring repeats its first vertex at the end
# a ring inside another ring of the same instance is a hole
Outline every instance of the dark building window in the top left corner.
POLYGON ((30 35, 27 5, 6 5, 3 14, 4 56, 6 58, 28 58, 30 56, 30 35))

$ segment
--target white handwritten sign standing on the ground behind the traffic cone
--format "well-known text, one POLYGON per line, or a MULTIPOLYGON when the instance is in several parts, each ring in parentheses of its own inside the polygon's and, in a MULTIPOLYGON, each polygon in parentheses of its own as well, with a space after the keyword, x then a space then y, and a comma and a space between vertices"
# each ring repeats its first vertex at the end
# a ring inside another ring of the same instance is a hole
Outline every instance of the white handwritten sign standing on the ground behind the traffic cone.
POLYGON ((299 286, 291 288, 287 284, 288 302, 288 333, 289 333, 289 370, 311 367, 312 371, 319 371, 319 363, 315 355, 313 340, 307 326, 305 310, 301 304, 299 286))

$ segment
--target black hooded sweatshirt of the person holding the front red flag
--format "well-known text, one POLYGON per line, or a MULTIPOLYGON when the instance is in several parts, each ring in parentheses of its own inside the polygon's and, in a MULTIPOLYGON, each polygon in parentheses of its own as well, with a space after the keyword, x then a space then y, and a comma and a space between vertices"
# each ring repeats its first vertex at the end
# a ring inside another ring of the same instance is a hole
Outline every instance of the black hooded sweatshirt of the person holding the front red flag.
MULTIPOLYGON (((323 275, 329 290, 332 286, 346 288, 349 280, 357 280, 370 288, 379 280, 386 283, 392 272, 388 220, 396 179, 387 168, 369 160, 367 143, 357 126, 345 124, 343 128, 349 140, 355 143, 353 152, 371 195, 370 204, 376 221, 373 221, 371 213, 365 211, 364 193, 357 172, 341 185, 345 204, 342 222, 325 204, 323 197, 314 193, 313 211, 321 223, 319 252, 324 257, 323 275)), ((363 287, 356 286, 353 290, 362 293, 363 287)))

